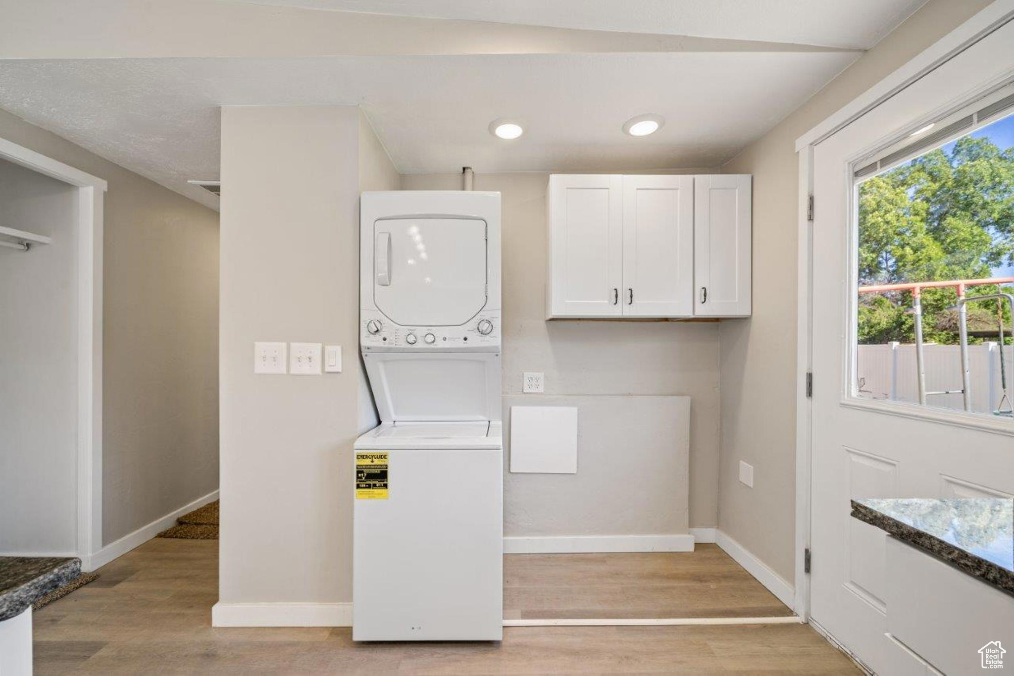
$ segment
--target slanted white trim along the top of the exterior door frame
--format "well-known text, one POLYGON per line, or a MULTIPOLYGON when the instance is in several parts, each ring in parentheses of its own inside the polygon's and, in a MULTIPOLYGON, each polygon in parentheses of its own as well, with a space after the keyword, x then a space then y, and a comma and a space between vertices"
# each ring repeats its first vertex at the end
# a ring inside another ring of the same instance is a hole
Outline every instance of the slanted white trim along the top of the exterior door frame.
POLYGON ((1014 0, 996 0, 796 139, 796 151, 798 152, 808 145, 816 145, 826 139, 1012 18, 1014 18, 1014 0))

